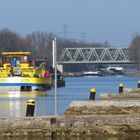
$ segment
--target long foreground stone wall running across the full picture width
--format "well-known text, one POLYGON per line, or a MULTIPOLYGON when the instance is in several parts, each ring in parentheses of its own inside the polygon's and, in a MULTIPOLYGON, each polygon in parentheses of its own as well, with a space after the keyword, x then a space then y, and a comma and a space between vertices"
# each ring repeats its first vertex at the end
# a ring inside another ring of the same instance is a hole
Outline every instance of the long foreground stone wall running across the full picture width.
POLYGON ((0 136, 94 136, 138 134, 140 116, 93 115, 0 119, 0 136))

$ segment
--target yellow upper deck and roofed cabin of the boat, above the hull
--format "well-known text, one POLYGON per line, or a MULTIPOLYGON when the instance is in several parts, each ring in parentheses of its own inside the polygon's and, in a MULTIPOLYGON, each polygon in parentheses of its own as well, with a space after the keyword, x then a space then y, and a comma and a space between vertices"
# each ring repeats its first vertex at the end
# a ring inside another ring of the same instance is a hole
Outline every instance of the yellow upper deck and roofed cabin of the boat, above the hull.
POLYGON ((2 52, 0 77, 39 77, 39 71, 29 64, 30 52, 2 52))

